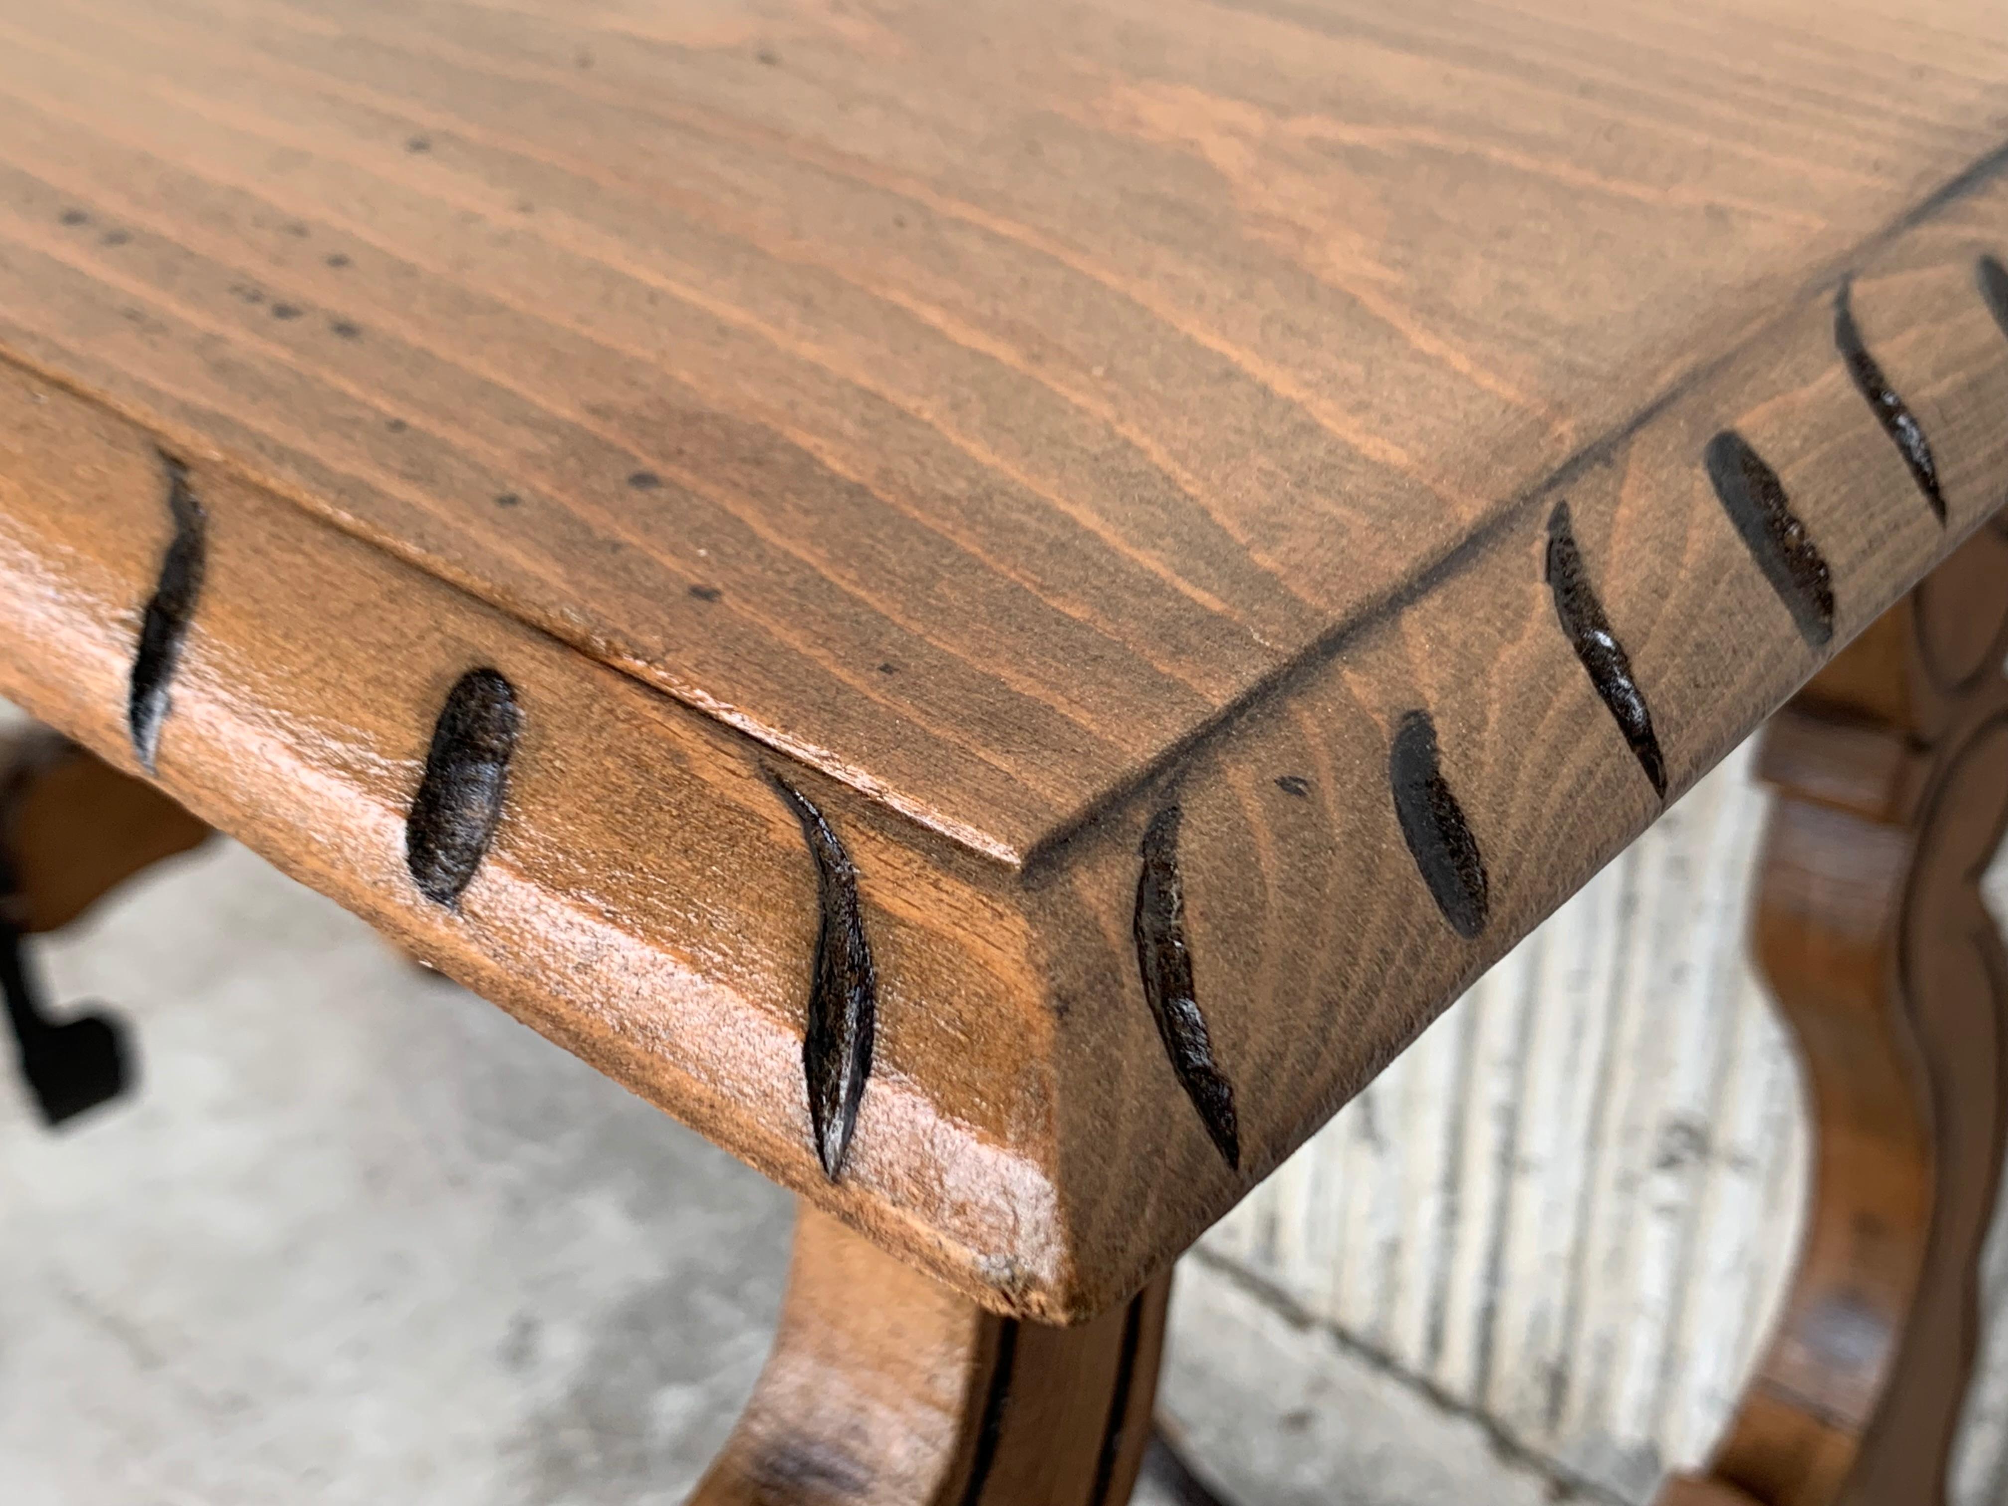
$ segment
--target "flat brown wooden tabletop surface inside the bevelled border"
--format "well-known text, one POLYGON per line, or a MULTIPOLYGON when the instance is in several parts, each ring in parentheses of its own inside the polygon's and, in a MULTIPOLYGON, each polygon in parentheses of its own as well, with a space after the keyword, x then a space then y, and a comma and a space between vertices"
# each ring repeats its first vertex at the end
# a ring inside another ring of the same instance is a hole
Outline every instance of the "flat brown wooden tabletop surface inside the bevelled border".
POLYGON ((1978 0, 0 40, 8 345, 1006 861, 2008 135, 1978 0))

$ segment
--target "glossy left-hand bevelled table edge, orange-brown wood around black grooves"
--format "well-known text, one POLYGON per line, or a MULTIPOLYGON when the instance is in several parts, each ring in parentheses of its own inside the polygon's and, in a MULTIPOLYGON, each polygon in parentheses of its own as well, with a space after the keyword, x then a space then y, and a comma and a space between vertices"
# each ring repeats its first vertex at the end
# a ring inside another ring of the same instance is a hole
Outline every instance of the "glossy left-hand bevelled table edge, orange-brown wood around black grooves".
MULTIPOLYGON (((0 458, 0 693, 137 771, 127 675, 173 528, 153 440, 8 371, 0 458)), ((803 1090, 817 869, 763 761, 301 508, 189 470, 209 574, 161 787, 888 1245, 1052 1309, 1072 1259, 1054 1030, 994 865, 817 789, 882 968, 877 1068, 829 1183, 803 1090), (478 667, 514 687, 522 731, 494 837, 446 908, 414 880, 408 825, 440 707, 478 667)))

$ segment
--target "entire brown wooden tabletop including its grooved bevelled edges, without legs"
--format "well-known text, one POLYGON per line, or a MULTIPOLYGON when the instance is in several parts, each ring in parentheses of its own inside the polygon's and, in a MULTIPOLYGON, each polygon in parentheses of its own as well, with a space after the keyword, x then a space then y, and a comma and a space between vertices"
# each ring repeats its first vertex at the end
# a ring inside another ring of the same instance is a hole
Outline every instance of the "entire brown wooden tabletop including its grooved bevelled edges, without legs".
MULTIPOLYGON (((131 653, 171 536, 141 436, 217 550, 241 492, 299 578, 243 608, 235 753, 171 725, 163 783, 1022 1311, 1217 1217, 2008 474, 1986 0, 70 0, 0 6, 0 40, 6 402, 88 410, 14 440, 74 504, 12 504, 16 663, 88 637, 58 576, 131 653), (88 500, 112 474, 124 522, 88 500), (526 743, 498 851, 675 962, 647 990, 711 1000, 679 1016, 709 1066, 665 1064, 683 1026, 637 1034, 639 994, 560 1000, 614 942, 468 940, 480 880, 444 916, 369 898, 373 857, 247 793, 307 695, 285 653, 325 669, 315 631, 369 610, 396 635, 287 743, 333 781, 301 799, 402 813, 422 707, 482 657, 548 659, 578 737, 635 707, 570 775, 701 791, 546 819, 526 743), (458 645, 410 717, 400 643, 458 645), (845 869, 882 1078, 1032 1181, 942 1173, 912 1124, 880 1181, 803 1149, 781 1064, 845 869), (1195 968, 1197 1044, 1165 1006, 1195 968), (705 1078, 755 1016, 771 1060, 705 1078), (978 1082, 1000 1056, 1040 1066, 978 1082)), ((122 703, 10 675, 124 747, 122 703)))

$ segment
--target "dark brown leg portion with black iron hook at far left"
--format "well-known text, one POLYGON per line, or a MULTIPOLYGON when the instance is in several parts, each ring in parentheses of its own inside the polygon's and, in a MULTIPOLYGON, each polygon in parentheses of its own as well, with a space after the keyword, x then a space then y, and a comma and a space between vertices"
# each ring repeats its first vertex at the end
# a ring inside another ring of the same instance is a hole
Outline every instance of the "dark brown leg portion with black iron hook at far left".
POLYGON ((24 938, 68 926, 106 890, 205 835, 157 789, 54 733, 0 741, 0 988, 44 1122, 122 1092, 131 1058, 106 1014, 56 1022, 42 1012, 24 938))

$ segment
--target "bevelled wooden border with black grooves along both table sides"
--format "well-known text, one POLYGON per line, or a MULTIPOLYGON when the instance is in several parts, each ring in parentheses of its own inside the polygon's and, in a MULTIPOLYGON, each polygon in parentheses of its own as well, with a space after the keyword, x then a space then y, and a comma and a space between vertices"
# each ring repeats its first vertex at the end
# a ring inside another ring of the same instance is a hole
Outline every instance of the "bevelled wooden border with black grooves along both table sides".
POLYGON ((1992 510, 2004 219, 1998 181, 1946 199, 1018 869, 807 769, 777 799, 745 735, 18 367, 0 691, 936 1277, 1078 1321, 1992 510), (1890 504, 1920 454, 1944 526, 1890 504), (458 739, 470 667, 508 695, 458 739))

